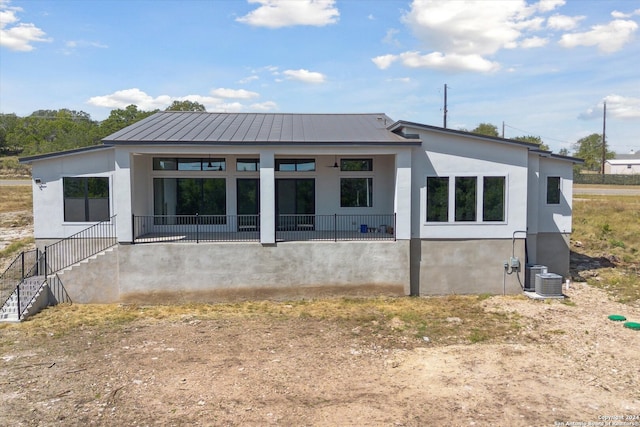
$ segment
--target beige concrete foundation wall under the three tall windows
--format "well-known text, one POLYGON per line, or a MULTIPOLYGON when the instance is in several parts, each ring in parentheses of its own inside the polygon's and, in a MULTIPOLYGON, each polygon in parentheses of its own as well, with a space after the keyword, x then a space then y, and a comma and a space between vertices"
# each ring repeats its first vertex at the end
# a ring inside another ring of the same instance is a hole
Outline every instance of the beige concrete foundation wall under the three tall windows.
MULTIPOLYGON (((504 262, 509 261, 512 247, 511 239, 414 242, 412 289, 419 289, 420 295, 522 292, 518 275, 505 274, 504 262)), ((523 239, 516 239, 515 255, 520 260, 519 277, 524 284, 523 239)))

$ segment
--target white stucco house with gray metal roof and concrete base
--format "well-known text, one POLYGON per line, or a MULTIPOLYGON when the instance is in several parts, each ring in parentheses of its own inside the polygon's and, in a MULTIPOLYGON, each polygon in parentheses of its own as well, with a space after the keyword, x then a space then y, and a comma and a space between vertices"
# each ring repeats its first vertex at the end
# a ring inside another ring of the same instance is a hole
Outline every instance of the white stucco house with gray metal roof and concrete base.
POLYGON ((385 114, 160 112, 21 160, 50 260, 92 225, 113 239, 62 272, 75 302, 517 293, 525 263, 569 270, 579 160, 535 144, 385 114))

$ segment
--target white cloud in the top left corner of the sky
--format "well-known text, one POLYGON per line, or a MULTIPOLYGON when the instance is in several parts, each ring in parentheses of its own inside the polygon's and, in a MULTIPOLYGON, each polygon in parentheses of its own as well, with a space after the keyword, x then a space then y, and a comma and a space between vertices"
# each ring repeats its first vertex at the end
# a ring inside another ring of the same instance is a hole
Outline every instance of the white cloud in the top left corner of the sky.
POLYGON ((0 1, 0 46, 10 50, 29 52, 34 49, 32 43, 50 42, 46 33, 34 24, 18 23, 20 7, 9 6, 8 1, 0 1))

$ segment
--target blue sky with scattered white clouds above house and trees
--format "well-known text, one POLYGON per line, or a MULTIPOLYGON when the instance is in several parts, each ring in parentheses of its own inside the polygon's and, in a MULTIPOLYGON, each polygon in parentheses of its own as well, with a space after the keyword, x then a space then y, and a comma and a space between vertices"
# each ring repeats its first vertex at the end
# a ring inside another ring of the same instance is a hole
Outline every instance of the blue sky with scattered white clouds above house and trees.
POLYGON ((640 0, 0 0, 0 112, 386 113, 640 150, 640 0))

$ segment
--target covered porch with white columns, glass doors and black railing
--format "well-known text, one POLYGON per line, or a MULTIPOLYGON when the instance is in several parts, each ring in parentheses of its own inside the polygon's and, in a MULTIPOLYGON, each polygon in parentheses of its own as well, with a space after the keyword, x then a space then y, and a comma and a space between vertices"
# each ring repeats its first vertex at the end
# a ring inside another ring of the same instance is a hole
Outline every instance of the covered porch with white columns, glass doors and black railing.
POLYGON ((410 238, 409 147, 364 155, 362 147, 131 148, 116 154, 131 180, 121 242, 126 234, 134 244, 410 238))

